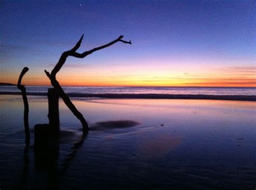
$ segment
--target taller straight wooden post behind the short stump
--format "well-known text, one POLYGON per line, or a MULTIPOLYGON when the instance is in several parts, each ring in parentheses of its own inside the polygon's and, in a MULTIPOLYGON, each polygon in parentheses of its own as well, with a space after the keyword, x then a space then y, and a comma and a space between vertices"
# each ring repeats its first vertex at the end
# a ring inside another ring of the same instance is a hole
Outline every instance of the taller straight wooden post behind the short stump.
POLYGON ((49 135, 58 136, 59 133, 59 94, 55 88, 48 89, 49 104, 49 135))

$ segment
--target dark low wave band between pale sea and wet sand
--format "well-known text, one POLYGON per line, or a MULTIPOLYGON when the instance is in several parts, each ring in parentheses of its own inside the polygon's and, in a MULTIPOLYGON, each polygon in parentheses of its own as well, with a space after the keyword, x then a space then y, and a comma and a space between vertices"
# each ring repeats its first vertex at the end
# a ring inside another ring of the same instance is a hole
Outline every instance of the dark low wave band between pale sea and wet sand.
MULTIPOLYGON (((0 92, 0 95, 21 95, 20 92, 0 92)), ((30 93, 27 95, 47 96, 47 93, 30 93)), ((144 99, 190 99, 190 100, 232 100, 256 101, 255 95, 204 95, 204 94, 77 94, 68 93, 69 97, 100 97, 100 98, 144 98, 144 99)))

